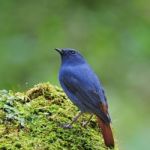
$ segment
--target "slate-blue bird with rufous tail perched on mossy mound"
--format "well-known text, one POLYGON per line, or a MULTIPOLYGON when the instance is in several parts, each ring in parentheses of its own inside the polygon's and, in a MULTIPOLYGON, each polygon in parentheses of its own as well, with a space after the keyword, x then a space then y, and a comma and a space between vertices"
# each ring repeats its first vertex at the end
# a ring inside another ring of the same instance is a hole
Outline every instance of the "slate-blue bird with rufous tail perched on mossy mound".
POLYGON ((98 77, 78 51, 70 48, 55 50, 61 55, 60 84, 69 99, 80 110, 67 127, 70 127, 82 113, 88 112, 91 117, 94 114, 97 116, 105 145, 113 148, 114 138, 110 126, 108 103, 98 77))

